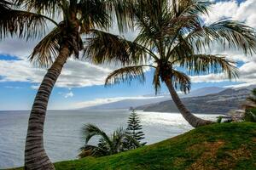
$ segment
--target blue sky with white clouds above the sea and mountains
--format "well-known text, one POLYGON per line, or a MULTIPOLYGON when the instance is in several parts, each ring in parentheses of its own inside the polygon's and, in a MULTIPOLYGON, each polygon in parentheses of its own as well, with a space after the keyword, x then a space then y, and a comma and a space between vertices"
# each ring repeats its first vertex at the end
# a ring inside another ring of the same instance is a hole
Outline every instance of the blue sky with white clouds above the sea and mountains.
MULTIPOLYGON (((256 0, 217 1, 209 16, 203 16, 207 24, 230 18, 240 20, 256 29, 256 0)), ((113 30, 114 32, 114 30, 113 30)), ((136 32, 125 34, 136 37, 136 32)), ((38 85, 46 72, 28 61, 37 41, 26 42, 18 38, 0 40, 0 111, 30 110, 38 85)), ((204 87, 240 88, 256 84, 256 54, 245 56, 236 50, 224 50, 218 44, 211 54, 226 54, 238 63, 240 77, 230 82, 223 75, 191 77, 192 90, 204 87)), ((69 59, 56 82, 49 99, 49 110, 77 109, 88 105, 99 105, 120 99, 139 99, 143 95, 154 95, 153 71, 146 72, 146 82, 121 83, 104 87, 104 80, 113 71, 113 65, 92 65, 78 59, 69 59)), ((161 92, 167 92, 162 86, 161 92)))

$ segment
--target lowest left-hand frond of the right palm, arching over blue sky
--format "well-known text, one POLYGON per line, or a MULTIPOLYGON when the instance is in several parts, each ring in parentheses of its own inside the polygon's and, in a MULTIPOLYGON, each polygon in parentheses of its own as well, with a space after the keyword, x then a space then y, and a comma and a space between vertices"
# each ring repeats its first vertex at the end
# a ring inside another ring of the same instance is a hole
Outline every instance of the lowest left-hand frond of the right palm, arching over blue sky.
POLYGON ((108 75, 105 85, 118 84, 120 82, 130 83, 137 79, 139 82, 145 82, 143 65, 126 66, 113 71, 108 75))

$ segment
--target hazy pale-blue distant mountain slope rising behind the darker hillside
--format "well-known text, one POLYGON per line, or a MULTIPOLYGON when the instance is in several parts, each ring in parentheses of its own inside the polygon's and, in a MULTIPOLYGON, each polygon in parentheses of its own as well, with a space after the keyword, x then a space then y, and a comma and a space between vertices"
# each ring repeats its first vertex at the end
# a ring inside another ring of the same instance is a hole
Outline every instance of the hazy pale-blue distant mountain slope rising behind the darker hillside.
MULTIPOLYGON (((220 91, 223 91, 225 88, 217 88, 217 87, 208 87, 208 88, 199 88, 192 90, 189 94, 180 94, 181 98, 187 97, 195 97, 207 94, 216 94, 220 91)), ((144 95, 143 99, 122 99, 116 102, 103 104, 103 105, 95 105, 90 107, 84 107, 81 110, 117 110, 117 109, 129 109, 130 107, 137 107, 140 105, 151 105, 154 103, 159 103, 162 101, 170 100, 171 96, 169 93, 158 94, 155 96, 154 94, 144 95)))

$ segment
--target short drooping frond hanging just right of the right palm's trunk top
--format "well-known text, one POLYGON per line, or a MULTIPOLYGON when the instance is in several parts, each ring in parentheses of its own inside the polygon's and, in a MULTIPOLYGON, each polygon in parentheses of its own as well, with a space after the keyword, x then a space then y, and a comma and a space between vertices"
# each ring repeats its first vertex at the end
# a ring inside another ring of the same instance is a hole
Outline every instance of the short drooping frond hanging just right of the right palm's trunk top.
POLYGON ((180 71, 172 70, 173 87, 187 94, 191 88, 190 78, 180 71))

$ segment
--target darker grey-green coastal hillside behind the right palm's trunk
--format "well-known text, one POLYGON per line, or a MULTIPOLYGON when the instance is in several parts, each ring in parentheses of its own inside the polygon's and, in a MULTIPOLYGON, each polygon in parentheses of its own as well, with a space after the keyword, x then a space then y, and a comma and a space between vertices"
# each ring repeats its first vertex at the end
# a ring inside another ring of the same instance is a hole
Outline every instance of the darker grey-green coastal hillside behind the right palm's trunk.
MULTIPOLYGON (((240 105, 245 101, 250 90, 242 89, 225 89, 218 94, 208 94, 205 96, 183 98, 183 104, 194 113, 205 114, 226 114, 230 110, 239 109, 240 105)), ((136 108, 140 111, 158 111, 158 112, 177 112, 176 105, 172 100, 142 105, 136 108)))

